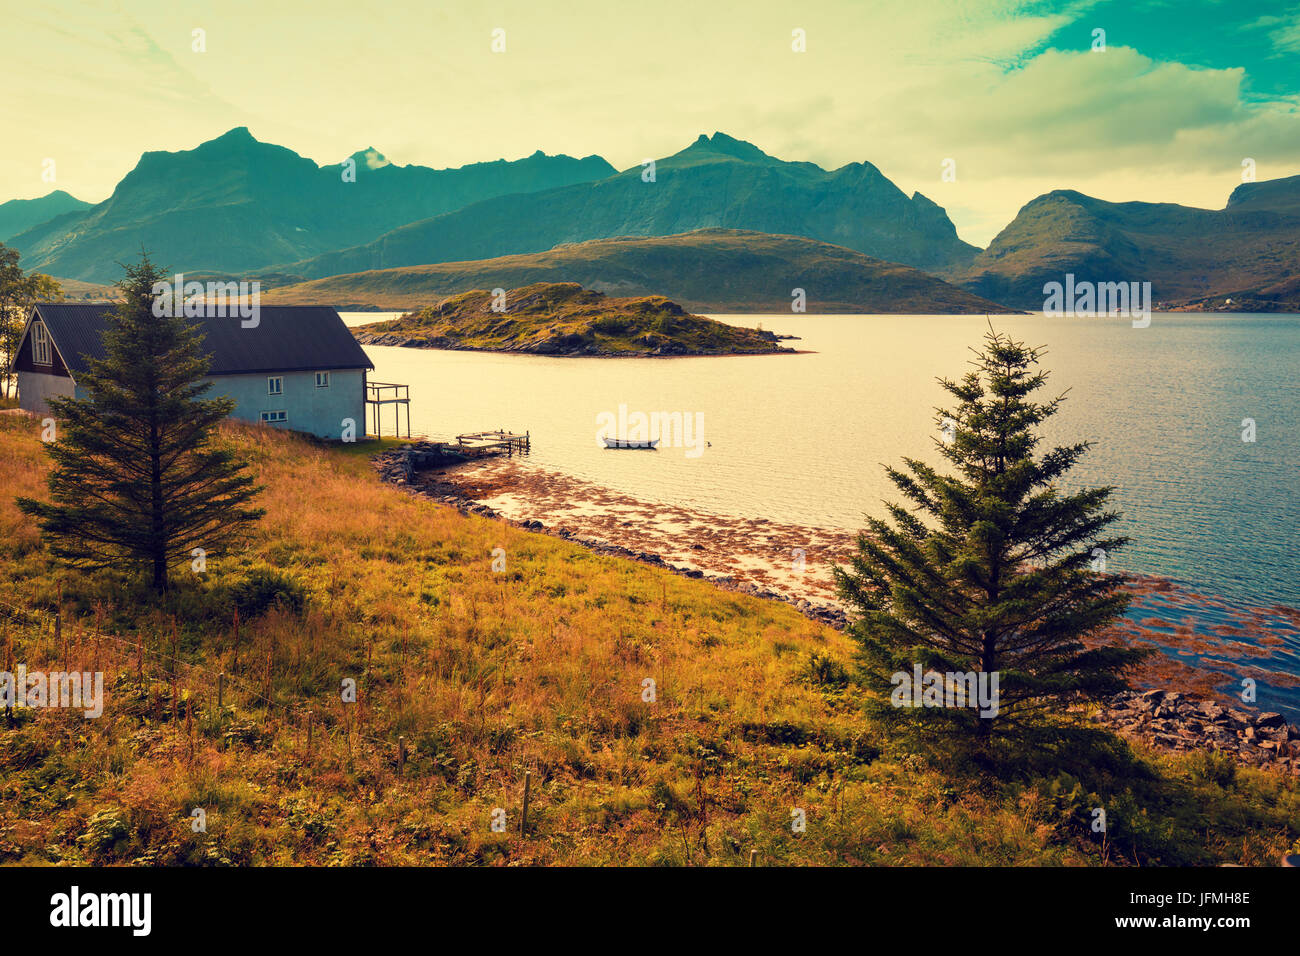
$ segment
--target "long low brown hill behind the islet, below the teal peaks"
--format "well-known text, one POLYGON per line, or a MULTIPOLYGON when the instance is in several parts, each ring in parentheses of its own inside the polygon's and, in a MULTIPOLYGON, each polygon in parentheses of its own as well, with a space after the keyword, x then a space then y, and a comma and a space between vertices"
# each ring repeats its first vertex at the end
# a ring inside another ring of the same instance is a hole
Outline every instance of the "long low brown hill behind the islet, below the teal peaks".
POLYGON ((667 295, 693 312, 789 312, 803 289, 809 312, 916 315, 1005 312, 1002 306, 919 269, 801 235, 699 229, 623 237, 547 252, 332 276, 276 289, 269 303, 341 310, 420 308, 471 289, 577 282, 611 295, 667 295))

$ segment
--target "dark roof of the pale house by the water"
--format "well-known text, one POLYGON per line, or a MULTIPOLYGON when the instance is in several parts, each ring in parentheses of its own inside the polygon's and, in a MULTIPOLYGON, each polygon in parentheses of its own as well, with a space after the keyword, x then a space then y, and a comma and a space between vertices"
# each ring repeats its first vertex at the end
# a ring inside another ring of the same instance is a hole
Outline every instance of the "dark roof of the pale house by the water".
MULTIPOLYGON (((104 358, 105 315, 116 306, 40 303, 35 307, 73 377, 86 371, 84 355, 104 358)), ((261 306, 255 328, 231 319, 190 319, 212 355, 209 375, 311 372, 374 368, 365 350, 329 306, 261 306)))

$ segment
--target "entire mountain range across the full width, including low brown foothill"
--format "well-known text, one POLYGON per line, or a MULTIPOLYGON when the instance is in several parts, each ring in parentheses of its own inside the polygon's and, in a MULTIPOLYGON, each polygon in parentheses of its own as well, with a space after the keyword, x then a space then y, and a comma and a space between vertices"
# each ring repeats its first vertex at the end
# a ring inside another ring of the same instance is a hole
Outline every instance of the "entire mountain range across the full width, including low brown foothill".
POLYGON ((870 163, 823 169, 723 133, 619 172, 541 151, 430 169, 367 148, 321 166, 239 127, 144 153, 95 206, 4 203, 0 242, 60 278, 112 281, 143 247, 176 271, 372 307, 576 281, 703 311, 785 311, 793 287, 823 311, 1037 310, 1072 273, 1149 281, 1157 307, 1300 311, 1300 176, 1243 183, 1222 209, 1054 190, 982 251, 870 163))

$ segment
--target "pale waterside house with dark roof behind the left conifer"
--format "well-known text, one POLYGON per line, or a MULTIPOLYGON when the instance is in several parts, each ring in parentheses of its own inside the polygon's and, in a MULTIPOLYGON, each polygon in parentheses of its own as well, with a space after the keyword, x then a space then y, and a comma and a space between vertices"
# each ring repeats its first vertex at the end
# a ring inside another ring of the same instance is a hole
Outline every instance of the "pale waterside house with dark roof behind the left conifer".
MULTIPOLYGON (((18 343, 18 405, 47 415, 52 395, 87 393, 77 378, 87 358, 103 358, 112 304, 44 303, 27 317, 18 343)), ((204 398, 229 395, 231 418, 263 421, 321 438, 365 436, 367 373, 374 368, 338 312, 326 306, 261 306, 244 328, 238 316, 191 319, 211 355, 204 398)))

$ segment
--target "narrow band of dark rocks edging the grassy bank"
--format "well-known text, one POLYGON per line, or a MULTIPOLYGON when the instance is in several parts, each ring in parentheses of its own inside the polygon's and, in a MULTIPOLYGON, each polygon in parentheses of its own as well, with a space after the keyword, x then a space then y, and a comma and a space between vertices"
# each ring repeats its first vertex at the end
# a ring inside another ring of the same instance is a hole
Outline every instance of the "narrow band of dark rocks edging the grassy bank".
MULTIPOLYGON (((468 497, 451 483, 420 480, 422 468, 437 468, 447 463, 432 445, 420 442, 381 453, 373 459, 382 480, 402 486, 411 494, 455 507, 462 514, 506 522, 540 535, 554 535, 598 554, 637 561, 684 578, 706 580, 724 591, 788 604, 811 620, 840 631, 848 627, 848 617, 836 605, 784 594, 738 581, 731 575, 712 575, 675 564, 653 551, 582 537, 564 525, 547 527, 537 519, 514 520, 468 497)), ((1209 697, 1150 688, 1115 695, 1092 710, 1089 719, 1154 749, 1176 753, 1216 750, 1243 765, 1300 775, 1300 727, 1290 726, 1282 714, 1252 714, 1209 697)))

